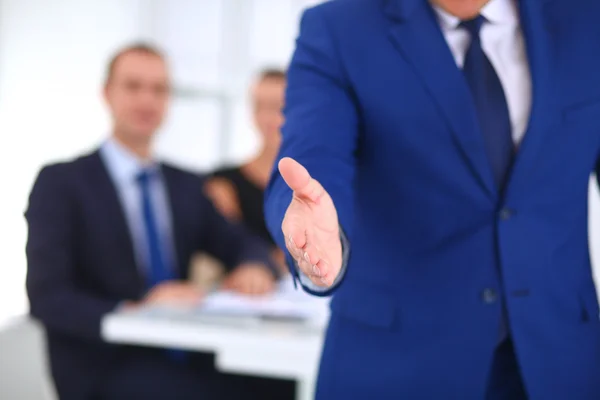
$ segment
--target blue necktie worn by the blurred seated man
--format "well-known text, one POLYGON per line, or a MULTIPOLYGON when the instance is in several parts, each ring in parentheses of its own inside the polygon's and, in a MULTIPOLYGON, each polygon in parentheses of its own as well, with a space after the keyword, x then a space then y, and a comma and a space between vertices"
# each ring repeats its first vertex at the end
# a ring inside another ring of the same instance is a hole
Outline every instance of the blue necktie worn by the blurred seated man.
POLYGON ((154 205, 150 195, 150 185, 153 179, 157 179, 156 173, 151 171, 142 171, 137 176, 137 181, 142 194, 142 213, 144 216, 144 231, 146 233, 146 243, 148 245, 148 268, 147 285, 152 288, 161 282, 175 278, 173 266, 167 262, 168 247, 162 240, 156 216, 154 214, 154 205))

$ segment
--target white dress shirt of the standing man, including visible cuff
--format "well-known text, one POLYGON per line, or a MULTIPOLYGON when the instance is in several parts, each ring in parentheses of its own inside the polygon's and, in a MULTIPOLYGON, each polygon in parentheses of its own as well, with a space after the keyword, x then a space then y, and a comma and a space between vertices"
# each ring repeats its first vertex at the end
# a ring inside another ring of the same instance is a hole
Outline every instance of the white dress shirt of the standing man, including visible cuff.
MULTIPOLYGON (((460 26, 460 18, 434 5, 440 28, 450 47, 454 60, 462 69, 465 56, 471 44, 469 32, 460 26)), ((531 75, 525 39, 519 22, 519 12, 514 0, 490 0, 481 10, 486 22, 481 27, 481 47, 498 74, 504 96, 508 103, 513 141, 518 146, 523 140, 531 113, 531 75)), ((334 283, 338 283, 346 273, 348 243, 345 244, 345 257, 342 270, 334 283)), ((300 273, 300 281, 315 292, 325 292, 300 273)))

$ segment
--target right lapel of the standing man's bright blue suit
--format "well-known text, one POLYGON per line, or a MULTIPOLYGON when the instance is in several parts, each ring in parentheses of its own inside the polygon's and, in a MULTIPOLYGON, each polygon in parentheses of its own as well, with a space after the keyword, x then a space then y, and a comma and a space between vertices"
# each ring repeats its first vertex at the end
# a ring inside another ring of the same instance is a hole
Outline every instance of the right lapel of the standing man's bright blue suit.
POLYGON ((514 188, 526 182, 528 172, 539 155, 545 133, 558 121, 559 97, 552 84, 556 64, 553 53, 552 27, 548 15, 550 0, 521 0, 519 12, 521 29, 525 36, 527 58, 532 80, 531 115, 523 142, 513 165, 507 196, 514 188))

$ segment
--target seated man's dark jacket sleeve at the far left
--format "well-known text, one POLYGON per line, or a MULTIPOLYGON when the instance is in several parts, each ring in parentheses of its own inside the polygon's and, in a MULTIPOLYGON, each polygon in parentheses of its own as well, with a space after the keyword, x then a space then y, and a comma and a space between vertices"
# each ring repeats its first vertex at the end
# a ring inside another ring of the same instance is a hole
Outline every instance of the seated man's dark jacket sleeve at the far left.
POLYGON ((102 317, 117 302, 87 293, 75 284, 76 205, 62 166, 44 168, 25 213, 27 293, 30 312, 47 329, 82 339, 101 340, 102 317))

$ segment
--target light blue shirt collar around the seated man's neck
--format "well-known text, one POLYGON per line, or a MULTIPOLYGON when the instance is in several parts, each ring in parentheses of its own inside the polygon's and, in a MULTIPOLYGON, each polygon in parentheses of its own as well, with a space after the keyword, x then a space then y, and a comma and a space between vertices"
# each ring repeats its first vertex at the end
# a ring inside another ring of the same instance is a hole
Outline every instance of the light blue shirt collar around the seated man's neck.
POLYGON ((100 154, 112 178, 118 183, 135 182, 142 170, 158 171, 155 160, 142 160, 116 138, 108 138, 100 148, 100 154))

